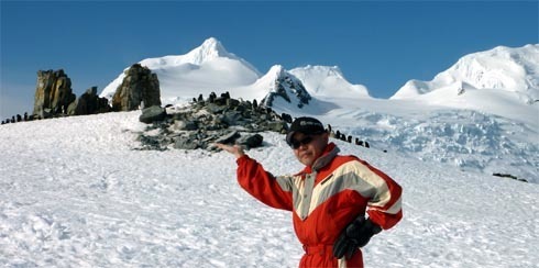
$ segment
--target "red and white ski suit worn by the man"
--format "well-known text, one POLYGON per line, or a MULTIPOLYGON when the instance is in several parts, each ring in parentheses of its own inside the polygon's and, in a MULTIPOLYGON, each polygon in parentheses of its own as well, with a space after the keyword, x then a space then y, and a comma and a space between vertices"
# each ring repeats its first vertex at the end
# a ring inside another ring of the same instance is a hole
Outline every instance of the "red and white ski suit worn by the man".
POLYGON ((293 212, 305 249, 299 267, 363 267, 361 250, 351 259, 333 257, 342 230, 365 212, 384 230, 403 217, 400 186, 360 158, 338 153, 330 143, 311 167, 294 176, 275 177, 246 155, 237 160, 243 189, 270 206, 293 212))

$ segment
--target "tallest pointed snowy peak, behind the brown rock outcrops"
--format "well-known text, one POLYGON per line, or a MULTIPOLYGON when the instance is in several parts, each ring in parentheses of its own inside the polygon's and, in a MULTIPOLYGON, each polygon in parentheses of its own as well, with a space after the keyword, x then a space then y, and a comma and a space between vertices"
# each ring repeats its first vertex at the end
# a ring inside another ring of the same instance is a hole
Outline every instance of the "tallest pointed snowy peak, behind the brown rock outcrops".
MULTIPOLYGON (((187 102, 200 93, 208 96, 220 90, 230 90, 235 97, 231 89, 251 85, 261 76, 251 64, 228 53, 216 38, 206 40, 185 55, 147 58, 140 64, 157 74, 162 103, 187 102)), ((124 77, 120 74, 100 96, 111 99, 124 77)))

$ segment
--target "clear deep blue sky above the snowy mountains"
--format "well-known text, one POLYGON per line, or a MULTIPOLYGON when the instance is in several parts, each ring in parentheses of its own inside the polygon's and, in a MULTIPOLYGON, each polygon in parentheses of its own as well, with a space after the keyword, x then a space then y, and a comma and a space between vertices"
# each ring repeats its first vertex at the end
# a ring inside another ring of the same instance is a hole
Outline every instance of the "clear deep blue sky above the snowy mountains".
POLYGON ((538 1, 4 1, 0 116, 32 112, 36 71, 63 68, 78 96, 127 66, 206 38, 266 72, 339 66, 389 98, 466 54, 539 43, 538 1))

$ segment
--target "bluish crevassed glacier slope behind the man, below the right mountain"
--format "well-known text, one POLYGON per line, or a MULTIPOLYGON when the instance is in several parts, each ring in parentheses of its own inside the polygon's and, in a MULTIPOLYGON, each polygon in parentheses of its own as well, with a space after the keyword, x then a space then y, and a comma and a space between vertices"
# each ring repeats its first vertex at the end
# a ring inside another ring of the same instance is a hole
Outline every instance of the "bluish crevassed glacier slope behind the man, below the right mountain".
POLYGON ((342 97, 314 99, 314 105, 302 109, 277 101, 274 108, 294 116, 316 116, 334 132, 380 150, 539 183, 539 105, 522 105, 509 92, 507 98, 486 90, 475 93, 461 99, 462 109, 451 108, 451 101, 342 97))

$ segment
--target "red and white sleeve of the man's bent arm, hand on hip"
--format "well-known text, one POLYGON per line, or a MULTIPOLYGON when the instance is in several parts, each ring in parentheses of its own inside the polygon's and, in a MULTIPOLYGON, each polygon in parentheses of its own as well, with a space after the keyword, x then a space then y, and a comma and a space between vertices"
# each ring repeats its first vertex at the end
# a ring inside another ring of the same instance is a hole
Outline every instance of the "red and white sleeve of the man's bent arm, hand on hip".
POLYGON ((403 188, 389 176, 367 163, 360 160, 369 169, 363 178, 372 186, 372 194, 367 202, 367 213, 372 222, 387 230, 403 217, 403 188))

